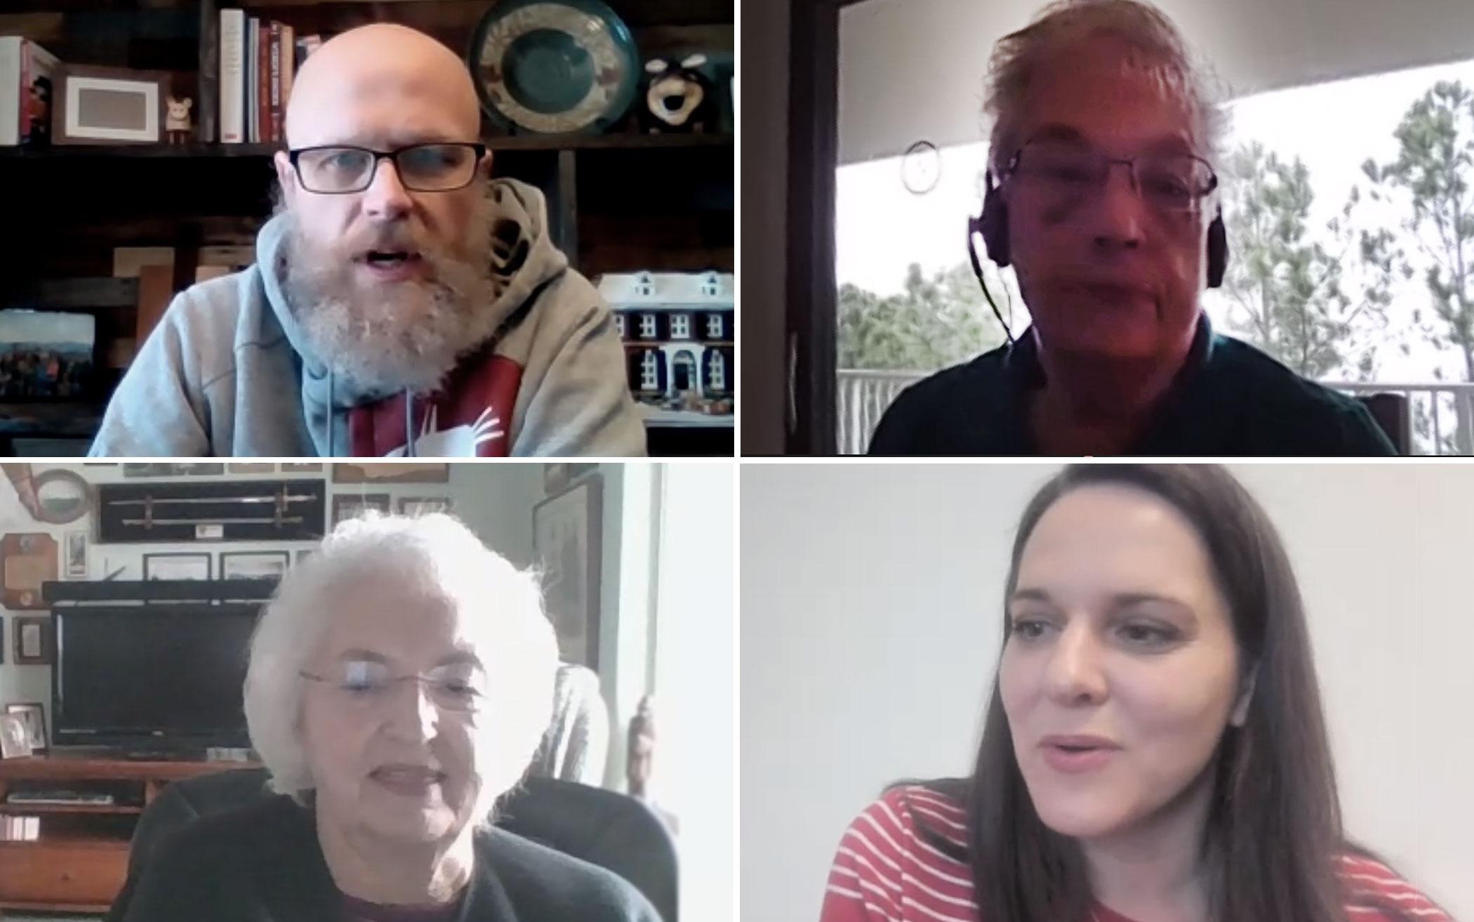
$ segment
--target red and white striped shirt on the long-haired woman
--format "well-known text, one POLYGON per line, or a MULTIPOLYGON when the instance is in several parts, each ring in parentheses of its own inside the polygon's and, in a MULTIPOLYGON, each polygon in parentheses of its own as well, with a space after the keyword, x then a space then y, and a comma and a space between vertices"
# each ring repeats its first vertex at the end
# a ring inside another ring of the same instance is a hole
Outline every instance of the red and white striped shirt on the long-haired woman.
MULTIPOLYGON (((917 823, 967 845, 967 816, 955 800, 917 785, 887 791, 845 831, 830 869, 820 922, 979 922, 973 869, 917 836, 917 823)), ((1453 922, 1380 862, 1341 857, 1352 922, 1453 922)), ((1097 903, 1097 922, 1132 919, 1097 903)))

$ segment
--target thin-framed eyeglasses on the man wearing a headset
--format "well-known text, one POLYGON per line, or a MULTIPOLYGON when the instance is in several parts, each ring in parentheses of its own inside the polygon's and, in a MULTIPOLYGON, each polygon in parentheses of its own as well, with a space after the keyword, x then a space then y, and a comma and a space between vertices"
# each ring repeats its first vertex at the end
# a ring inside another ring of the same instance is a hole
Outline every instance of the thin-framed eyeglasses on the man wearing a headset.
POLYGON ((1067 204, 1103 187, 1116 164, 1126 164, 1132 186, 1147 205, 1169 214, 1197 211, 1203 198, 1218 187, 1213 168, 1191 153, 1106 156, 1091 148, 1058 142, 1024 145, 1008 161, 1004 177, 1019 176, 1051 201, 1067 204))

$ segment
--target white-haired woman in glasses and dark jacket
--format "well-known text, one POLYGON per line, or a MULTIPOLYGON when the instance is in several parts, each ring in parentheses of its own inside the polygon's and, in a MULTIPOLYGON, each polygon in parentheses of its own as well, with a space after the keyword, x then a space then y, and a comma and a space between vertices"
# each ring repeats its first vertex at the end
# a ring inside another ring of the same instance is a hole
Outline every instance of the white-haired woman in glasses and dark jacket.
POLYGON ((251 642, 279 797, 165 844, 128 922, 654 922, 621 878, 494 829, 551 714, 537 578, 447 515, 345 522, 251 642))

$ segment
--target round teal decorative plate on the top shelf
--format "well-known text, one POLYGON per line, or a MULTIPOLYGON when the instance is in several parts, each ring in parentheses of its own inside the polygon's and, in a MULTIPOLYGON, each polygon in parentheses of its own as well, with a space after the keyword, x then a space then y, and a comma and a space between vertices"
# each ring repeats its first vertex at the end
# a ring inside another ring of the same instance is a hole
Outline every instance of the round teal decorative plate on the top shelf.
POLYGON ((640 52, 598 0, 507 0, 476 27, 470 71, 486 115, 509 133, 603 131, 634 102, 640 52))

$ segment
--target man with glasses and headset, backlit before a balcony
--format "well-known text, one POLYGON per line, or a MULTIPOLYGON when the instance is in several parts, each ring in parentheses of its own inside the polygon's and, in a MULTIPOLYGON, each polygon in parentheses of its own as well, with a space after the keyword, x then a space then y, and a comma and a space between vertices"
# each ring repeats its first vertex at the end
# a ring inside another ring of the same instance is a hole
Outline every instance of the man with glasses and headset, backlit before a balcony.
POLYGON ((1138 0, 1060 0, 998 41, 980 235, 1033 326, 908 388, 873 454, 1394 453, 1201 310, 1229 266, 1206 74, 1138 0))

